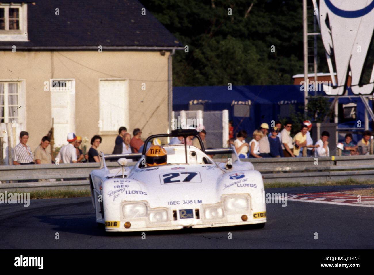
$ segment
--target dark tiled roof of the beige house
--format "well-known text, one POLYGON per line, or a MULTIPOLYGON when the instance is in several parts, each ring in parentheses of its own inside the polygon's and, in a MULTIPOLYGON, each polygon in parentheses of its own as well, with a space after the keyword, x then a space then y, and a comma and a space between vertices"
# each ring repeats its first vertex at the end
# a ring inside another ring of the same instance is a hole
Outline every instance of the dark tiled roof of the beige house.
MULTIPOLYGON (((29 42, 11 47, 181 47, 181 43, 137 0, 24 0, 29 42), (55 9, 59 15, 55 15, 55 9)), ((3 2, 5 3, 5 2, 3 2)))

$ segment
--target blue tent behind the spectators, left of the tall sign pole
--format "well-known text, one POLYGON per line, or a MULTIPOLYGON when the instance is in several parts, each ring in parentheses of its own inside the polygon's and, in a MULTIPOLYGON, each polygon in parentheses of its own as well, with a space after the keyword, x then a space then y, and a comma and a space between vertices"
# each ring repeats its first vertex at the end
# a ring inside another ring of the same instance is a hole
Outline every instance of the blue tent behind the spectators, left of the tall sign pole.
POLYGON ((232 86, 232 90, 228 86, 173 88, 174 111, 191 110, 193 105, 204 111, 229 110, 236 132, 244 129, 252 136, 261 123, 270 126, 279 114, 284 116, 289 106, 299 110, 304 105, 304 92, 300 85, 232 86))

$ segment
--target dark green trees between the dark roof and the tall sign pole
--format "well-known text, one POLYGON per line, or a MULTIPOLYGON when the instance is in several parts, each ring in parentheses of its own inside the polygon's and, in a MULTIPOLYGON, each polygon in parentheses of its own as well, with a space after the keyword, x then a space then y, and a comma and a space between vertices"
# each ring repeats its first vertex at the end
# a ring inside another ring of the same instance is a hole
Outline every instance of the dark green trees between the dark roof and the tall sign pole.
POLYGON ((173 57, 174 86, 284 85, 303 70, 299 0, 140 1, 188 45, 173 57))

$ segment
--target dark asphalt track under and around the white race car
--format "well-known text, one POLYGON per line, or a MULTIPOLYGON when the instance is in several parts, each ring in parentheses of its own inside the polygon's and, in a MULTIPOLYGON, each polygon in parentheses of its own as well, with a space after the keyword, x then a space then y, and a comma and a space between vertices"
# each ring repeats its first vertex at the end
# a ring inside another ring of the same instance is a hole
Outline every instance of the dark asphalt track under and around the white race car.
MULTIPOLYGON (((266 193, 319 192, 365 186, 266 189, 266 193)), ((267 204, 263 229, 174 230, 107 236, 96 225, 91 198, 0 204, 0 249, 373 249, 374 207, 288 201, 267 204), (228 239, 228 233, 232 239, 228 239), (56 239, 59 233, 59 239, 56 239), (315 239, 318 233, 318 239, 315 239)))

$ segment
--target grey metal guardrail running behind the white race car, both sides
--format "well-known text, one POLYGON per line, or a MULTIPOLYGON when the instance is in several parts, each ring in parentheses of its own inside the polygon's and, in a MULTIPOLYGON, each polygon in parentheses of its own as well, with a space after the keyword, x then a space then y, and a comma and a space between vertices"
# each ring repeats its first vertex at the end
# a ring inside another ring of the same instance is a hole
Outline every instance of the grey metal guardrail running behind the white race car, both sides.
MULTIPOLYGON (((220 161, 220 159, 217 159, 220 161)), ((334 156, 315 158, 262 158, 242 159, 252 162, 261 172, 265 183, 319 183, 332 180, 369 180, 374 176, 374 155, 334 156), (317 162, 318 161, 318 162, 317 162)), ((108 168, 119 167, 117 162, 107 162, 108 168)), ((128 162, 127 166, 135 162, 128 162)), ((89 173, 98 169, 99 163, 4 165, 0 166, 0 192, 15 190, 28 192, 43 189, 88 189, 89 173), (62 180, 63 179, 63 180, 62 180), (35 180, 16 183, 9 181, 35 180)))

